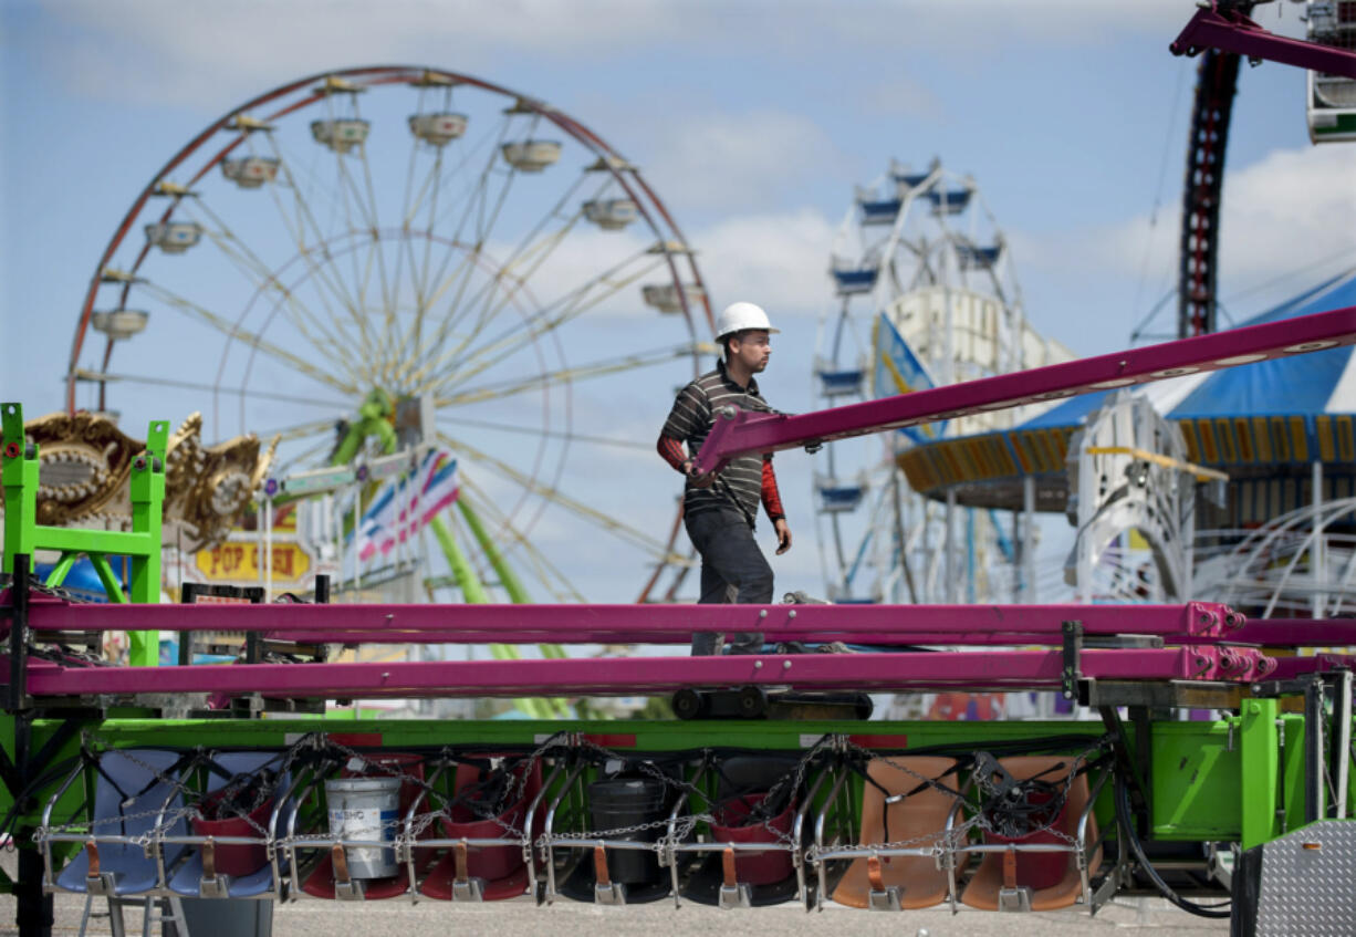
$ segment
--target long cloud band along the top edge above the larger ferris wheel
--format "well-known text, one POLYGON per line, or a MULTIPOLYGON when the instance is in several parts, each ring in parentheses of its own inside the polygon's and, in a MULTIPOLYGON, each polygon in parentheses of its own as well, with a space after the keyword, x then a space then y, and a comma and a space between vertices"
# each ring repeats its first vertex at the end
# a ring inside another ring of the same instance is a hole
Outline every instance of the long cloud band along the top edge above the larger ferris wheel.
MULTIPOLYGON (((1180 0, 849 7, 754 0, 64 0, 46 5, 64 28, 34 38, 46 43, 47 65, 60 80, 94 98, 207 110, 290 77, 357 62, 473 69, 499 65, 504 54, 578 61, 595 53, 641 56, 681 46, 738 53, 750 61, 822 56, 834 46, 864 54, 974 54, 1012 42, 1104 42, 1127 34, 1161 35, 1166 43, 1191 14, 1180 0)), ((1294 28, 1290 19, 1269 27, 1287 24, 1294 28)))

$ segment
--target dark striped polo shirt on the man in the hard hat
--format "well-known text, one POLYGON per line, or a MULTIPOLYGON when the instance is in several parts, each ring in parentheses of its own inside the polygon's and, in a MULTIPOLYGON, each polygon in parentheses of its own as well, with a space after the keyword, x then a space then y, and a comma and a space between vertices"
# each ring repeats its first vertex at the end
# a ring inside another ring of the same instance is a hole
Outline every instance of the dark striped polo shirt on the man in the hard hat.
MULTIPOLYGON (((725 374, 725 362, 717 361, 716 370, 706 372, 678 393, 674 408, 664 420, 662 435, 687 443, 689 457, 696 457, 701 452, 701 443, 711 434, 711 427, 715 426, 717 407, 736 407, 763 414, 772 410, 758 393, 758 381, 750 377, 749 388, 740 388, 725 374)), ((716 473, 716 480, 709 488, 697 488, 689 479, 683 487, 683 514, 693 517, 704 511, 734 509, 744 515, 749 526, 753 526, 762 494, 762 456, 757 453, 730 460, 730 464, 716 473)))

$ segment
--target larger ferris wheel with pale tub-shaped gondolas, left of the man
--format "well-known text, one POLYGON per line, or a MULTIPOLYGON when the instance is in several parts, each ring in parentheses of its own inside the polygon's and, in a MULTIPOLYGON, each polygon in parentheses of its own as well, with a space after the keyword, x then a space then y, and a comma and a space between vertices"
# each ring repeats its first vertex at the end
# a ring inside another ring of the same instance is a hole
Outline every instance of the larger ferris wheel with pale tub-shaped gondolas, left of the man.
POLYGON ((670 479, 614 484, 652 454, 636 380, 686 382, 709 335, 681 231, 597 133, 466 75, 340 69, 233 107, 151 178, 85 294, 66 407, 279 434, 274 475, 374 457, 344 437, 374 407, 456 458, 538 595, 590 591, 568 570, 594 552, 644 598, 685 557, 670 479))

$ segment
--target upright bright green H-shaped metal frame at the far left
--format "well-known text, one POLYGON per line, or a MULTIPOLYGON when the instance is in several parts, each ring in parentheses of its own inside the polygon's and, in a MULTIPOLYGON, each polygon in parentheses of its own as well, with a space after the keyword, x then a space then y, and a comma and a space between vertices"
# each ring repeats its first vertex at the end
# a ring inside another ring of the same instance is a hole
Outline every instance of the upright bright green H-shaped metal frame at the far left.
MULTIPOLYGON (((80 556, 88 556, 99 580, 114 602, 160 601, 160 509, 165 494, 165 446, 170 424, 153 420, 146 433, 146 450, 132 464, 132 530, 84 530, 38 523, 38 446, 30 446, 23 430, 23 407, 0 404, 4 422, 4 450, 0 476, 4 481, 4 571, 14 572, 16 555, 33 556, 39 549, 60 551, 61 559, 47 578, 60 586, 80 556), (123 594, 110 556, 130 560, 127 595, 123 594)), ((153 667, 160 656, 159 632, 129 632, 133 666, 153 667)))

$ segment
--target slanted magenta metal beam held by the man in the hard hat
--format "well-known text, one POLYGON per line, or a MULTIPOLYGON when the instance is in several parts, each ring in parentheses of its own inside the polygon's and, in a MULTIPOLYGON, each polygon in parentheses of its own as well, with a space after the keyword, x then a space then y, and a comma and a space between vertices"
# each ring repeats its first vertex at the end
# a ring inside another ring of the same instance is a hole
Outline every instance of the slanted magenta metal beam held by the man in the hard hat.
POLYGON ((799 416, 730 410, 716 420, 696 464, 700 472, 713 472, 735 456, 746 453, 795 449, 807 443, 1233 367, 1264 358, 1288 358, 1352 342, 1356 342, 1356 306, 799 416))

